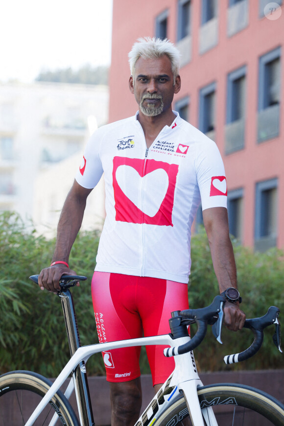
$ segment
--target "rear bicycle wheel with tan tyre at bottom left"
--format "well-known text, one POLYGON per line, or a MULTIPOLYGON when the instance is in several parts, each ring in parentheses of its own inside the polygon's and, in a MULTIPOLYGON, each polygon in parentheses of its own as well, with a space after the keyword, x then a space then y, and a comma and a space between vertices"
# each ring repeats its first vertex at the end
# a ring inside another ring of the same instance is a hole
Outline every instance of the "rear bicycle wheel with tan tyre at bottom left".
MULTIPOLYGON (((51 386, 45 377, 30 371, 12 371, 0 376, 0 426, 25 425, 51 386)), ((58 391, 34 425, 48 425, 57 413, 56 425, 80 426, 67 398, 58 391)))

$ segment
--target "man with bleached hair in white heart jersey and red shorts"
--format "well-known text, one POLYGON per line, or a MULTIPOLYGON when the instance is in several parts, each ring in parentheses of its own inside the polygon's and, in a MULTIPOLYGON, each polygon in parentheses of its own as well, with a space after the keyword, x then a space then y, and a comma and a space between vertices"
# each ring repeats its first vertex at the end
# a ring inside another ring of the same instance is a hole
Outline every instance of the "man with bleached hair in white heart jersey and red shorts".
MULTIPOLYGON (((219 151, 172 111, 181 87, 179 53, 167 40, 139 39, 129 62, 138 113, 91 137, 61 213, 52 265, 39 277, 41 288, 54 292, 61 275, 71 273, 69 254, 86 199, 104 172, 107 214, 92 280, 101 342, 167 333, 170 312, 188 308, 190 229, 200 198, 220 292, 237 288, 219 151)), ((230 330, 243 327, 238 302, 227 302, 224 312, 230 330)), ((133 424, 139 416, 139 355, 139 348, 103 354, 112 425, 133 424)), ((148 347, 147 355, 158 390, 173 361, 159 347, 148 347)))

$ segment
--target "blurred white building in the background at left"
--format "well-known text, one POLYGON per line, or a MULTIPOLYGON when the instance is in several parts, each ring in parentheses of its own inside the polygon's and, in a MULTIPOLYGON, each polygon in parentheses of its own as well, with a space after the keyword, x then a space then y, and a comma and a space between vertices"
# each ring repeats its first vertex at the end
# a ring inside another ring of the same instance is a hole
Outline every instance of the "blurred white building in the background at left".
MULTIPOLYGON (((84 145, 108 120, 108 99, 106 86, 0 84, 0 210, 19 212, 40 232, 52 232, 84 145)), ((104 217, 102 185, 96 192, 85 228, 104 217)))

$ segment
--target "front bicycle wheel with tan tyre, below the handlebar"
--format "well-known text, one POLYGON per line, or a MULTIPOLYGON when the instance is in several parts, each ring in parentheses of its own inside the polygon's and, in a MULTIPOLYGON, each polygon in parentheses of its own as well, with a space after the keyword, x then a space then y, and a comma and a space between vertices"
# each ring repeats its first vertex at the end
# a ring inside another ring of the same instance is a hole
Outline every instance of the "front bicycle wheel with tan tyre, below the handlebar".
MULTIPOLYGON (((213 407, 218 426, 284 425, 284 405, 250 386, 217 383, 203 386, 197 393, 201 408, 213 407)), ((167 408, 154 425, 175 426, 188 415, 185 399, 181 397, 167 408)), ((210 426, 206 422, 204 425, 210 426)))

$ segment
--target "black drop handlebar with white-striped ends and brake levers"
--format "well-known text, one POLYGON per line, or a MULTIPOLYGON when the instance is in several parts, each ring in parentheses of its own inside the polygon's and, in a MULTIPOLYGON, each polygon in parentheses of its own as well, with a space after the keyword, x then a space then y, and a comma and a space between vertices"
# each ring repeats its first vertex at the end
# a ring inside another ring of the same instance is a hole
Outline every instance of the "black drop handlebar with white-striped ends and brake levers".
MULTIPOLYGON (((226 302, 226 299, 223 296, 216 296, 211 305, 206 308, 201 309, 187 309, 180 312, 179 316, 185 320, 189 320, 187 324, 196 323, 197 331, 192 339, 189 342, 181 346, 175 346, 173 348, 166 348, 164 350, 164 355, 171 357, 174 355, 181 355, 195 349, 202 340, 204 339, 207 331, 207 325, 213 324, 213 334, 217 340, 222 343, 220 339, 221 326, 223 320, 223 304, 226 302), (218 316, 217 322, 216 315, 218 316)), ((255 335, 252 345, 241 352, 240 354, 227 355, 224 357, 224 362, 226 364, 232 364, 239 361, 244 361, 245 359, 250 358, 255 355, 263 341, 263 329, 271 324, 275 324, 275 334, 273 336, 273 342, 279 351, 282 353, 281 343, 280 343, 280 322, 278 321, 279 308, 272 306, 268 309, 267 313, 260 318, 247 319, 245 321, 244 327, 251 329, 255 335)))

